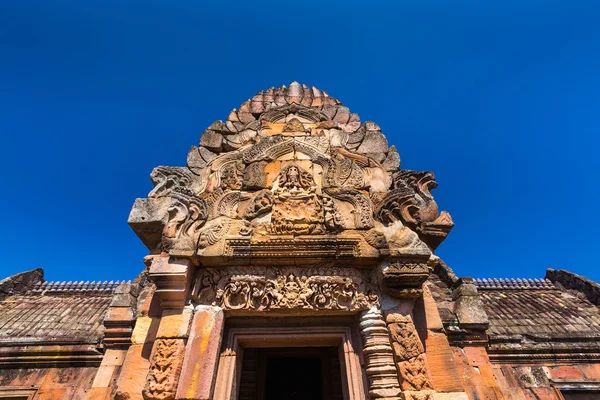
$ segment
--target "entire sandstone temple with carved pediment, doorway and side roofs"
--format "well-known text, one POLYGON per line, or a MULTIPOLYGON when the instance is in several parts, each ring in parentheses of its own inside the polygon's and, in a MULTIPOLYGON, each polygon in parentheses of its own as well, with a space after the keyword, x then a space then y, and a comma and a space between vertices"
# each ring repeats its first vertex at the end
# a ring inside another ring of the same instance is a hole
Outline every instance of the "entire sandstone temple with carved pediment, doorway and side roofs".
POLYGON ((322 90, 258 93, 150 178, 133 282, 0 281, 0 399, 600 399, 600 286, 457 277, 434 175, 322 90))

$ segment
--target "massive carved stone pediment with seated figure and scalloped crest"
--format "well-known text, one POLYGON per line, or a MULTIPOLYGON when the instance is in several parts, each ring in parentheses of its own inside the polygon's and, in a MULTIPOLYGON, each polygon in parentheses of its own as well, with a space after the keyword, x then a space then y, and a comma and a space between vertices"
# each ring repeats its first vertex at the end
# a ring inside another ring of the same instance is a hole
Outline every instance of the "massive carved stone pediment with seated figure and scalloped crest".
POLYGON ((186 167, 151 179, 130 225, 155 254, 195 264, 426 260, 453 226, 432 173, 401 170, 377 124, 297 83, 244 102, 206 129, 186 167))

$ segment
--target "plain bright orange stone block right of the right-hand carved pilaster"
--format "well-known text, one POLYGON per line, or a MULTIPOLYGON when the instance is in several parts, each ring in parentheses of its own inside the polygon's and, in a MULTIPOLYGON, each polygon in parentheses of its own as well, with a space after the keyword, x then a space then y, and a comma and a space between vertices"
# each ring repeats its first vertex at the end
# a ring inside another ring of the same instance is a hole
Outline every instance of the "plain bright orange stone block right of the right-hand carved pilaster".
POLYGON ((428 331, 425 339, 425 354, 431 384, 436 391, 463 391, 452 349, 445 334, 428 331))

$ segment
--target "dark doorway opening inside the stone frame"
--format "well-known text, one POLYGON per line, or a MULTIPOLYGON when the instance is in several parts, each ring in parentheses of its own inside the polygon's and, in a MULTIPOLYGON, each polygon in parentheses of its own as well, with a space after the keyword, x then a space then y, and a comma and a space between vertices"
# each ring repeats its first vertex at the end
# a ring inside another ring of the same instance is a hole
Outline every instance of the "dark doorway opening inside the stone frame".
POLYGON ((336 347, 244 349, 239 400, 342 400, 336 347))

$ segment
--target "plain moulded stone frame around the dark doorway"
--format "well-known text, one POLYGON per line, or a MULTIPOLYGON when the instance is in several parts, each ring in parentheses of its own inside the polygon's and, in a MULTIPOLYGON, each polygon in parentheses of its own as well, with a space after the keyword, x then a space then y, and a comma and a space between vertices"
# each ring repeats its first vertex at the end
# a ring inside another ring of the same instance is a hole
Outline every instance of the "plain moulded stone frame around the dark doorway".
POLYGON ((219 356, 214 400, 237 400, 244 348, 337 347, 344 399, 364 400, 365 386, 357 343, 346 326, 231 328, 219 356), (298 330, 302 329, 302 332, 298 330))

